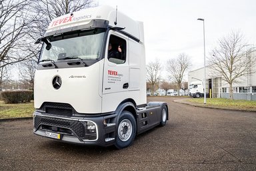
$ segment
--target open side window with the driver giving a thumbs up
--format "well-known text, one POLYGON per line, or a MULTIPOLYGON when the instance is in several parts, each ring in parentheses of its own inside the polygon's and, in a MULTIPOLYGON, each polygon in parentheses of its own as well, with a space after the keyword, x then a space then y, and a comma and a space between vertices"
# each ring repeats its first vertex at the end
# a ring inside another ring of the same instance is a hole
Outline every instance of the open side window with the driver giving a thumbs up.
POLYGON ((111 35, 109 38, 109 47, 107 59, 111 63, 122 64, 126 60, 126 41, 120 37, 111 35))

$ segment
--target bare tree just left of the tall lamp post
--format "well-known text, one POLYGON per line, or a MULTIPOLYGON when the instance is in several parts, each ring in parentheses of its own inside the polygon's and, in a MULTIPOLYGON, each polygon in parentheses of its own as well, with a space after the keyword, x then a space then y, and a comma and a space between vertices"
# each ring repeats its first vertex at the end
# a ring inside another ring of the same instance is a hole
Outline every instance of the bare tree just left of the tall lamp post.
POLYGON ((176 83, 179 89, 181 89, 181 83, 183 81, 185 72, 190 66, 191 62, 185 53, 181 53, 176 59, 169 59, 167 61, 167 72, 169 73, 169 79, 176 83))

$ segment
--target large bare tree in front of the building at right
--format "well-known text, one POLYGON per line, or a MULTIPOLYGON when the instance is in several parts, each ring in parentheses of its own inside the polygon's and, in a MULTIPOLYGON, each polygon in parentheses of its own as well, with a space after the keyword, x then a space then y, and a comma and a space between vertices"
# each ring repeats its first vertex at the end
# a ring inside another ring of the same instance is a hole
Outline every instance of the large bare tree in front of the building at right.
POLYGON ((219 45, 208 57, 209 66, 215 77, 222 77, 229 84, 229 98, 233 100, 232 85, 240 77, 251 74, 255 64, 255 57, 247 57, 247 43, 243 35, 237 31, 219 40, 219 45))

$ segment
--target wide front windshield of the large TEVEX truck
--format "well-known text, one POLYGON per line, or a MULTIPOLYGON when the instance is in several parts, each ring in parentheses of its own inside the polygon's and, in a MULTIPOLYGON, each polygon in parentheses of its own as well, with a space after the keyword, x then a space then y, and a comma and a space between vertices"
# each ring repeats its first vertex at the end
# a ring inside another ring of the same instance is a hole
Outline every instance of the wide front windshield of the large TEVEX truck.
POLYGON ((44 43, 40 61, 45 59, 57 61, 65 57, 78 57, 82 60, 99 59, 104 33, 105 29, 91 29, 47 37, 51 48, 47 50, 47 45, 44 43))

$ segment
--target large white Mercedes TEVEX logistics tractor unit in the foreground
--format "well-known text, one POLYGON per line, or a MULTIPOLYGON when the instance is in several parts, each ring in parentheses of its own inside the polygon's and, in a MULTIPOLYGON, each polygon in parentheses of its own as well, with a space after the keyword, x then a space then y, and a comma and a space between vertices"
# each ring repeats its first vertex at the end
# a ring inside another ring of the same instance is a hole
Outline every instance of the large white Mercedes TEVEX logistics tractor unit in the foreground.
POLYGON ((41 42, 35 134, 125 148, 136 134, 166 124, 167 103, 147 104, 143 23, 94 7, 53 19, 41 42))

